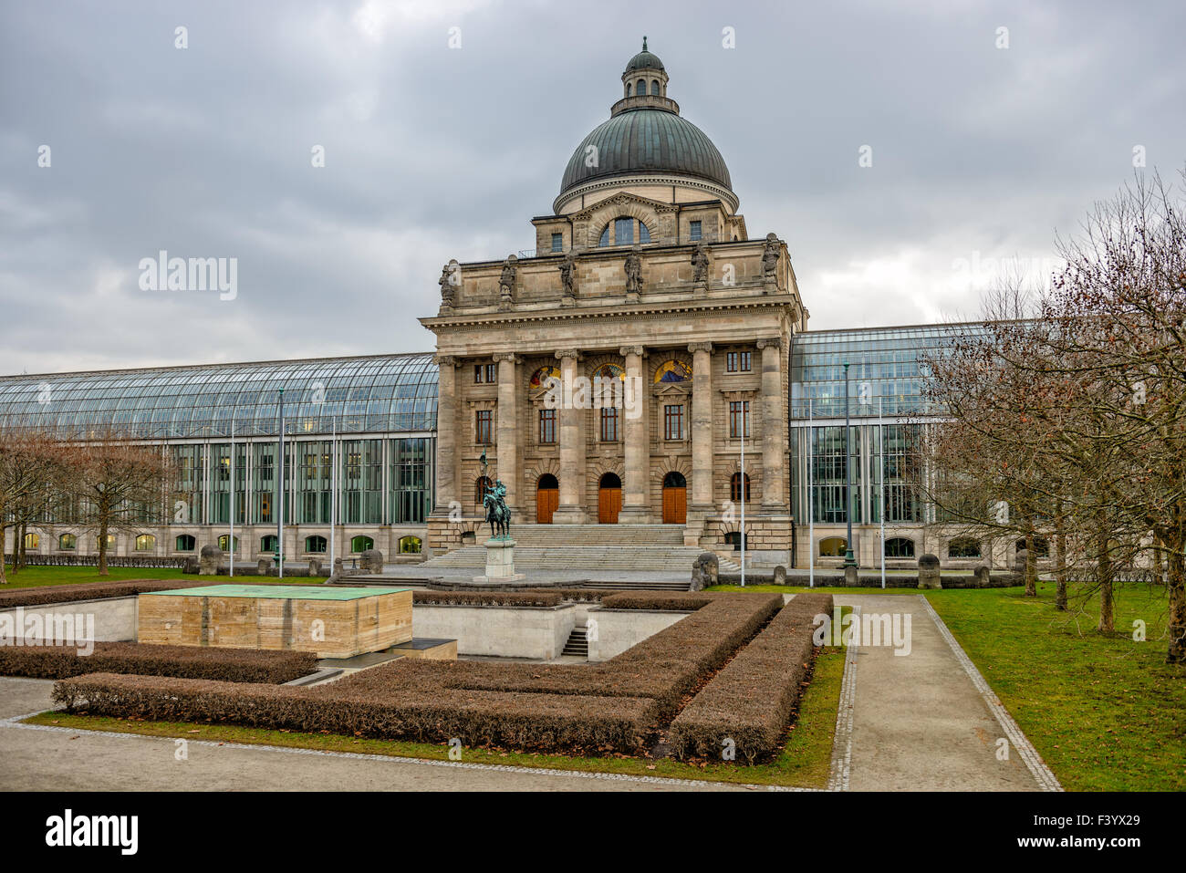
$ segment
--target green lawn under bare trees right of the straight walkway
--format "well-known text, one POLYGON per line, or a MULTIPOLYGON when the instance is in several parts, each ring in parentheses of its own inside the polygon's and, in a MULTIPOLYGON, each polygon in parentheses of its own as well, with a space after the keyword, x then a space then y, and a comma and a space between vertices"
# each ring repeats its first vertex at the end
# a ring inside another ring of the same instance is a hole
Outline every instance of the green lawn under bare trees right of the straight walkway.
MULTIPOLYGON (((741 591, 735 585, 712 591, 741 591)), ((745 591, 805 591, 746 586, 745 591)), ((913 595, 917 588, 818 588, 837 594, 913 595)), ((926 591, 993 690, 1058 776, 1080 791, 1186 791, 1186 670, 1166 656, 1166 597, 1117 587, 1117 632, 1098 633, 1098 600, 1054 610, 1054 586, 926 591), (1133 622, 1147 642, 1133 641, 1133 622)), ((860 689, 857 688, 857 694, 860 689)))

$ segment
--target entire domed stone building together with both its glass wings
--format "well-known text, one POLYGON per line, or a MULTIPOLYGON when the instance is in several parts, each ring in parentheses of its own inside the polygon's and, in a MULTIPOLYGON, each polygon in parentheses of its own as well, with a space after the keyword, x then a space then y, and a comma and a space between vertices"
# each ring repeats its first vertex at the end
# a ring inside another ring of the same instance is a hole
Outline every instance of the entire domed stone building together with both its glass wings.
MULTIPOLYGON (((521 542, 735 557, 744 502, 755 563, 839 565, 847 445, 862 566, 880 561, 882 521, 891 562, 1008 560, 927 525, 918 489, 919 356, 961 329, 808 331, 785 242, 751 236, 725 159, 668 85, 644 42, 531 219, 535 248, 444 267, 420 319, 435 355, 7 377, 0 416, 71 439, 115 428, 172 454, 160 517, 114 533, 117 555, 229 550, 234 505, 236 557, 269 556, 283 501, 291 559, 378 548, 465 565, 485 539, 485 472, 521 542)), ((26 547, 97 550, 69 517, 26 547)))

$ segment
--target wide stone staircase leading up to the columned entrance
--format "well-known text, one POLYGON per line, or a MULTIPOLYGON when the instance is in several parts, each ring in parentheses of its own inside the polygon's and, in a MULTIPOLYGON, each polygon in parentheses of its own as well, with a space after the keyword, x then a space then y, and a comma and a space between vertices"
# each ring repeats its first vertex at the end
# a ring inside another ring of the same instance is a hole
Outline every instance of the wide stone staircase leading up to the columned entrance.
MULTIPOLYGON (((691 563, 703 552, 683 544, 681 524, 521 524, 511 528, 515 566, 533 569, 600 569, 670 572, 690 576, 691 563)), ((486 565, 486 547, 463 546, 431 557, 426 568, 486 565)), ((721 560, 722 572, 740 567, 721 560)))

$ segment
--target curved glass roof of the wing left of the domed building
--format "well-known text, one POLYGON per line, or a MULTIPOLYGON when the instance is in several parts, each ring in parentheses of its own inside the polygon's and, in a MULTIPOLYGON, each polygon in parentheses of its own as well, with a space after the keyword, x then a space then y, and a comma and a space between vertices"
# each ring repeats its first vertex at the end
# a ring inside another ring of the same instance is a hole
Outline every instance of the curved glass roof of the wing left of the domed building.
POLYGON ((115 432, 132 439, 432 432, 432 355, 208 364, 0 377, 0 421, 65 439, 115 432), (234 426, 234 433, 232 433, 234 426))

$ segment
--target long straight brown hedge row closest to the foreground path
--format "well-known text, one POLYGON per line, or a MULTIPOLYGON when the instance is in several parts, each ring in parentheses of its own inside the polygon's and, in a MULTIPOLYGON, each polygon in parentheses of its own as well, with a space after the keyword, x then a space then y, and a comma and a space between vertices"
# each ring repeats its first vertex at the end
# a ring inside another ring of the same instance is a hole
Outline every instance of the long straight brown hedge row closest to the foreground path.
MULTIPOLYGON (((421 663, 421 662, 413 662, 421 663)), ((68 710, 154 721, 230 721, 249 727, 468 746, 637 753, 655 727, 645 699, 499 692, 365 693, 338 682, 301 688, 91 674, 62 680, 68 710)))

